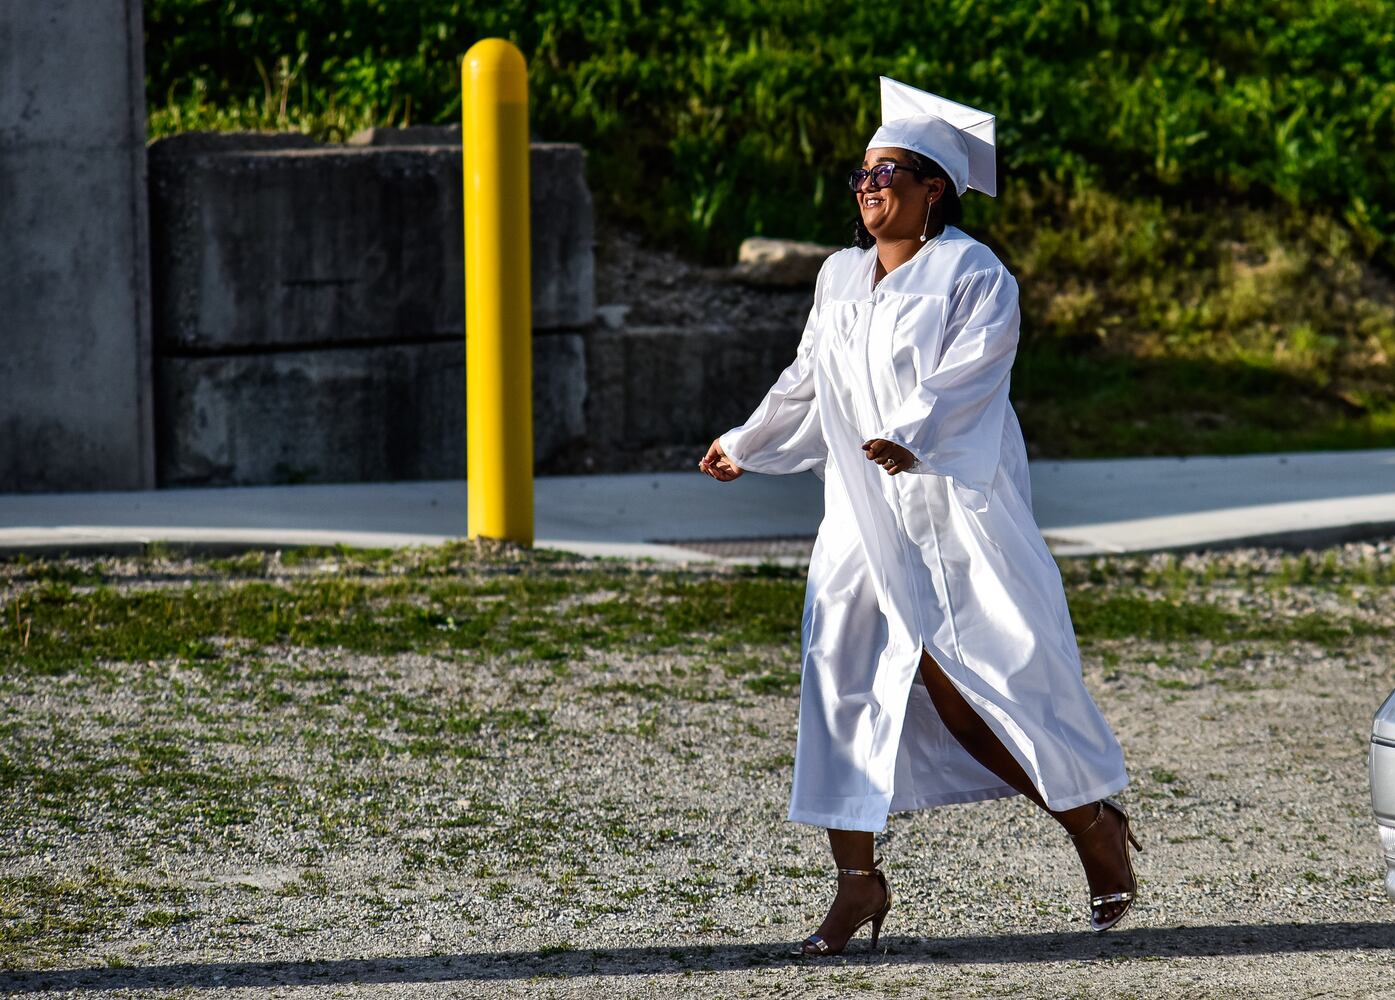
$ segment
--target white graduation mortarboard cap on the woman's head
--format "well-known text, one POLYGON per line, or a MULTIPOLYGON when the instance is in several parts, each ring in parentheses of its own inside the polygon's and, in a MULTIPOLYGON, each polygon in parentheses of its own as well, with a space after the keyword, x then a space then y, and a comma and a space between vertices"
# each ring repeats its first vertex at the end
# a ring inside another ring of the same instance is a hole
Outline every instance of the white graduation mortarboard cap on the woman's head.
POLYGON ((911 149, 944 167, 958 194, 971 187, 996 195, 996 141, 997 123, 988 112, 882 77, 882 127, 868 149, 911 149))

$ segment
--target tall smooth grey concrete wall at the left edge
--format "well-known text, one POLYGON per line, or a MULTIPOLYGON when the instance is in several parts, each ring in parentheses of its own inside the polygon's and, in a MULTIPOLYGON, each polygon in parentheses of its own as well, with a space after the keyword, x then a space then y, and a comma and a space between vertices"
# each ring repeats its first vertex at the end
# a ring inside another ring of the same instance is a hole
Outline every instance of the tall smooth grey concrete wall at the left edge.
POLYGON ((0 491, 155 481, 140 0, 0 14, 0 491))

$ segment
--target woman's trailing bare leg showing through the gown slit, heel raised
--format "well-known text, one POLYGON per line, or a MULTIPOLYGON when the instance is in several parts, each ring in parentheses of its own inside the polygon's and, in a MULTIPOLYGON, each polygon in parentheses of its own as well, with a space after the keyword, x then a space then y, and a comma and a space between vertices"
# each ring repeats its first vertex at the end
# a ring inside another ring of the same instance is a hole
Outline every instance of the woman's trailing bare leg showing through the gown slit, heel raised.
MULTIPOLYGON (((1041 792, 1036 791, 1032 780, 1027 777, 1023 766, 1017 763, 1017 757, 1003 746, 1003 742, 989 728, 988 722, 983 721, 982 715, 964 700, 964 696, 958 693, 958 688, 944 676, 944 671, 940 669, 940 665, 925 650, 921 653, 921 679, 925 681, 925 689, 930 693, 930 702, 935 703, 935 710, 944 722, 944 728, 958 741, 960 746, 968 750, 974 760, 1002 778, 1003 784, 1010 785, 1042 809, 1046 809, 1041 792)), ((1101 815, 1099 806, 1091 802, 1074 809, 1063 809, 1060 812, 1046 809, 1046 812, 1071 835, 1080 834, 1087 828, 1091 831, 1087 837, 1073 841, 1073 844, 1076 845, 1076 852, 1080 855, 1081 865, 1085 866, 1085 880, 1089 883, 1089 894, 1092 897, 1123 891, 1130 887, 1127 848, 1120 851, 1123 838, 1119 828, 1119 816, 1113 810, 1105 809, 1101 815), (1096 816, 1099 817, 1099 823, 1091 826, 1096 816)), ((1123 904, 1110 904, 1110 907, 1120 905, 1123 904)), ((1109 916, 1110 907, 1105 908, 1103 916, 1109 916)))

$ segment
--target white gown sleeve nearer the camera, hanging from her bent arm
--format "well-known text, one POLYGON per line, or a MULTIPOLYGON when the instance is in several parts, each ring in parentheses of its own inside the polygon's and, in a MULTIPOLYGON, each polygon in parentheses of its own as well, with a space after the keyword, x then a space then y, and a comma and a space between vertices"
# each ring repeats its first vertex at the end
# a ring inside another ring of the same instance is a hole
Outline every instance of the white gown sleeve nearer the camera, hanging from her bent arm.
POLYGON ((908 449, 919 462, 911 473, 953 478, 960 498, 982 512, 1007 420, 1017 280, 1002 265, 964 275, 949 308, 943 354, 873 437, 908 449))

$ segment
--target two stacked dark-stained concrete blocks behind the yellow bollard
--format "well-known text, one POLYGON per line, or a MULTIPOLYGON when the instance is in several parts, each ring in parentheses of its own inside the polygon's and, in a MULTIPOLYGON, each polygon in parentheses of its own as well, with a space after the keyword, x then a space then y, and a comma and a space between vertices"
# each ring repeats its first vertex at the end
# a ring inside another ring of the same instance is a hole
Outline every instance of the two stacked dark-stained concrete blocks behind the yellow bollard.
MULTIPOLYGON (((591 205, 579 146, 530 167, 547 469, 585 434, 591 205)), ((166 139, 151 216, 163 485, 465 474, 458 134, 166 139)))

